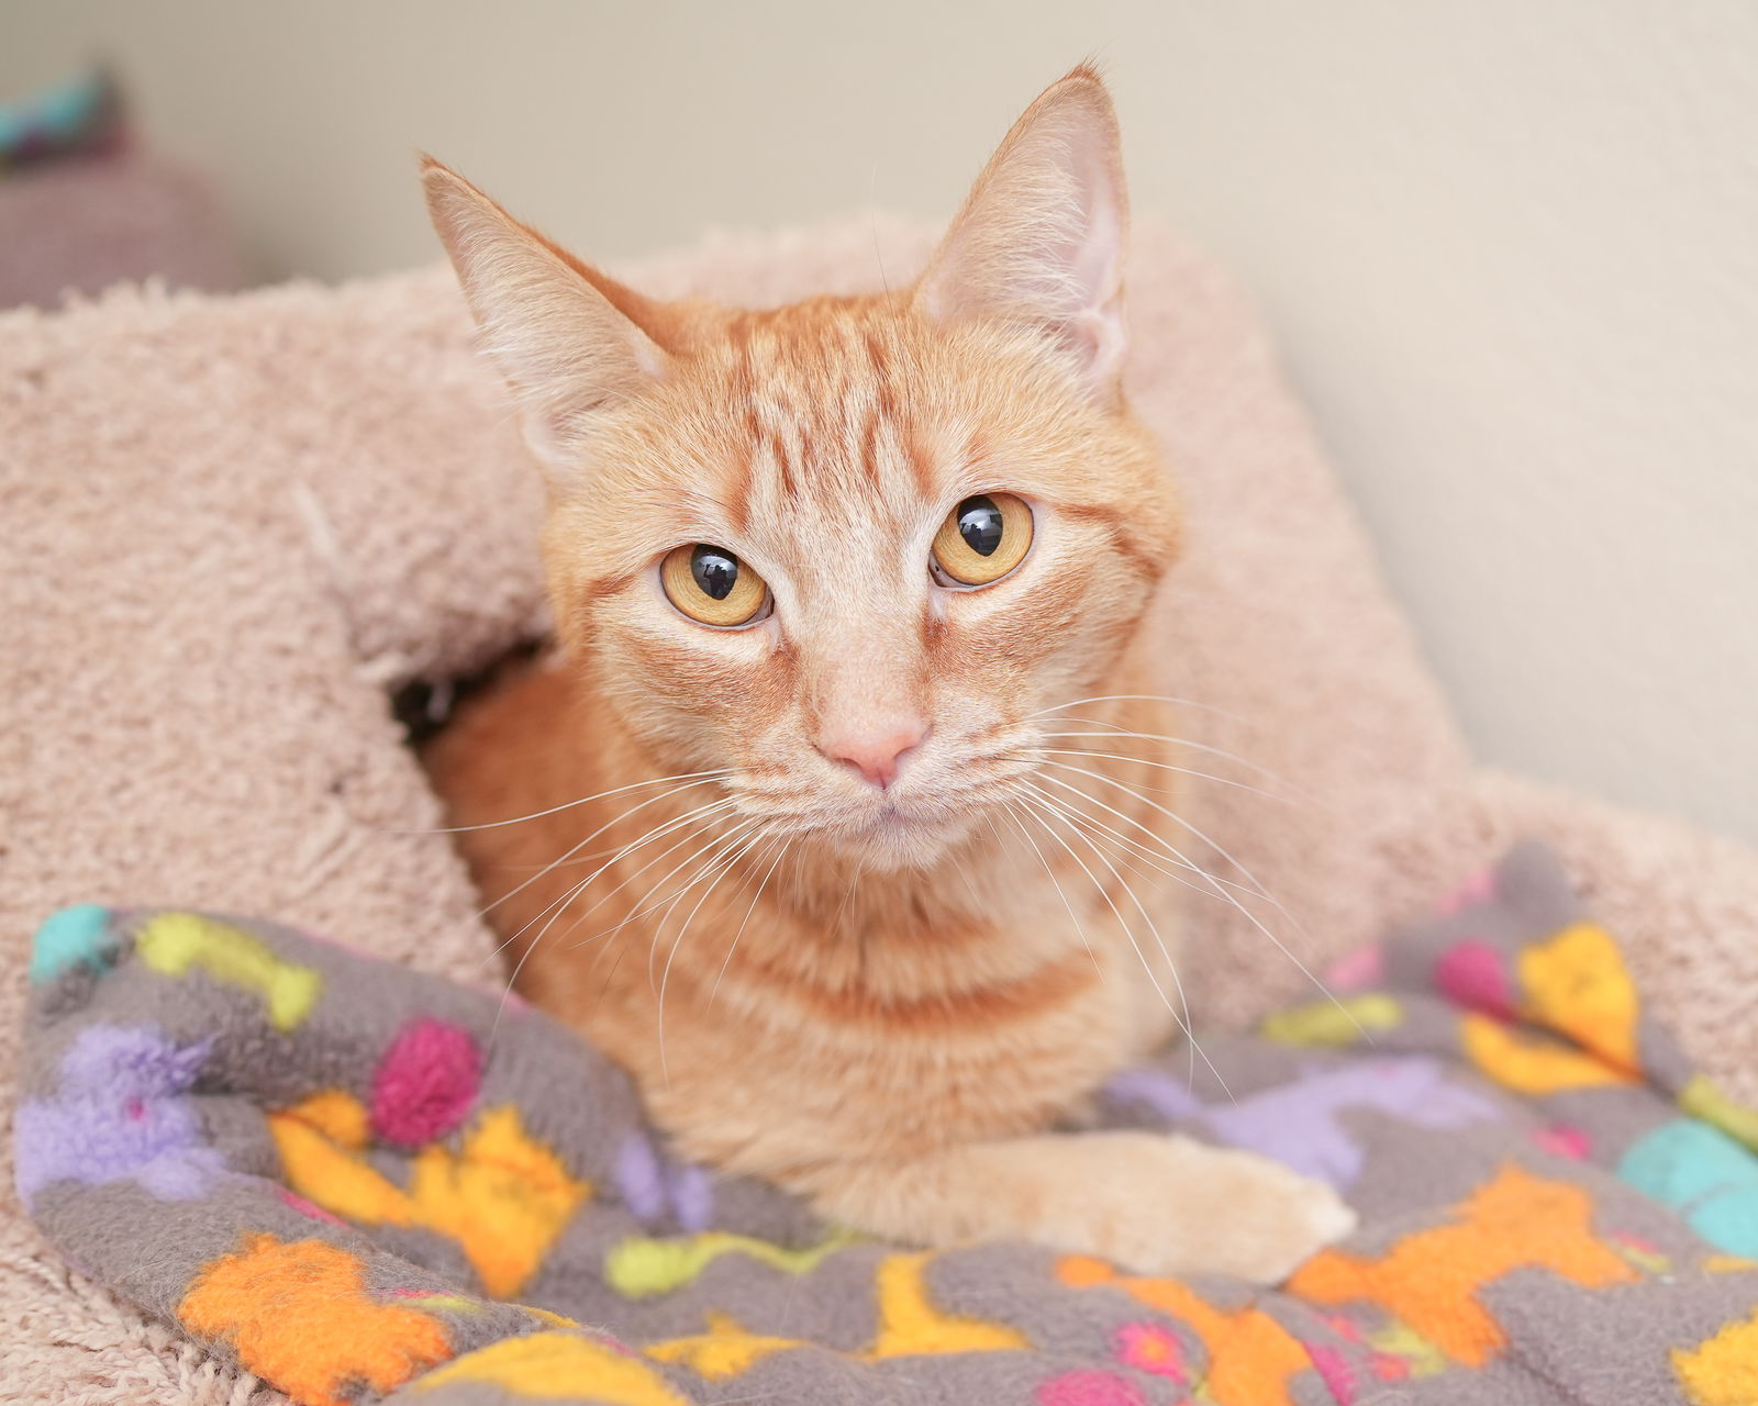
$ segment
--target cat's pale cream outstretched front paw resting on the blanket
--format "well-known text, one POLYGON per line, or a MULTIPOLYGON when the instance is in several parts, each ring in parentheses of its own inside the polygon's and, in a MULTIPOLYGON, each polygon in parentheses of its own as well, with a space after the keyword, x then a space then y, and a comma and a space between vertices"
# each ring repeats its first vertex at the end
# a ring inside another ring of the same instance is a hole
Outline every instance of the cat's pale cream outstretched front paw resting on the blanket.
POLYGON ((1273 1285, 1355 1228, 1334 1190, 1257 1153, 1157 1134, 1097 1137, 1115 1160, 1088 1188, 1085 1223, 1058 1228, 1137 1274, 1273 1285))

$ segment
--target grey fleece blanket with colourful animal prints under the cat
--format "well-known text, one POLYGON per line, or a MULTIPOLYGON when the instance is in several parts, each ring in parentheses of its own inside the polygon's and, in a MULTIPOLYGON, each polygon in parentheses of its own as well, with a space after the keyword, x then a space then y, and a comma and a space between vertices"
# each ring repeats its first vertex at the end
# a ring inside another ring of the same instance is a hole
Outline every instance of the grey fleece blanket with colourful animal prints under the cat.
POLYGON ((1206 1042, 1231 1093, 1106 1090, 1361 1209, 1275 1292, 860 1241, 673 1160, 543 1016, 269 923, 69 909, 32 982, 37 1225, 301 1402, 1758 1402, 1758 1116, 1536 847, 1206 1042))

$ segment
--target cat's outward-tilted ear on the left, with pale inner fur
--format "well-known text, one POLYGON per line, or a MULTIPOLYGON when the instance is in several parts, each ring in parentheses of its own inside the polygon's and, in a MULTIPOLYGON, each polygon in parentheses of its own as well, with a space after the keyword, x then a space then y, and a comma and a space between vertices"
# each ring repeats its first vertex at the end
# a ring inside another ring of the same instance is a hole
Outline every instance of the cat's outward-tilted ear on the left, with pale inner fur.
POLYGON ((547 469, 570 473, 591 417, 665 376, 666 352, 647 330, 654 306, 432 156, 422 158, 422 186, 482 346, 519 399, 526 439, 547 469))

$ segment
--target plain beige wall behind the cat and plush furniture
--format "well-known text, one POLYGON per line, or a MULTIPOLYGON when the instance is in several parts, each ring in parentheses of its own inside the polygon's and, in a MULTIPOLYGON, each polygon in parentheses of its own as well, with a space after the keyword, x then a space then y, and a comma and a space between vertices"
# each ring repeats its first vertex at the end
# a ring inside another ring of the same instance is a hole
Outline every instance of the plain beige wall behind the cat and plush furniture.
POLYGON ((12 4, 118 56, 267 276, 432 257, 427 148, 578 248, 944 214, 1097 54, 1255 290, 1482 754, 1758 840, 1758 5, 12 4))

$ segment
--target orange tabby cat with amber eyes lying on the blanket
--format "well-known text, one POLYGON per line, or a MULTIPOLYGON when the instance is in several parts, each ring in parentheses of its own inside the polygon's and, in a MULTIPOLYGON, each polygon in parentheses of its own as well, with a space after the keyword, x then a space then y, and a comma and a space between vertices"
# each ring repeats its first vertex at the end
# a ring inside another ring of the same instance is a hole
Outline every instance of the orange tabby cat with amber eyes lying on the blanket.
POLYGON ((1181 872, 1164 756, 1081 757, 1153 731, 1180 531, 1099 77, 883 295, 656 302, 424 179, 548 485, 557 656, 429 756, 519 986, 686 1156, 867 1232, 1276 1279, 1348 1230, 1259 1156, 1050 1130, 1171 1032, 1181 872))

